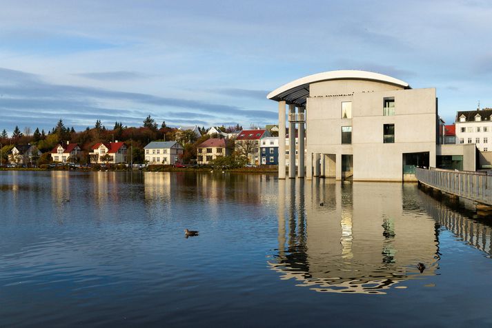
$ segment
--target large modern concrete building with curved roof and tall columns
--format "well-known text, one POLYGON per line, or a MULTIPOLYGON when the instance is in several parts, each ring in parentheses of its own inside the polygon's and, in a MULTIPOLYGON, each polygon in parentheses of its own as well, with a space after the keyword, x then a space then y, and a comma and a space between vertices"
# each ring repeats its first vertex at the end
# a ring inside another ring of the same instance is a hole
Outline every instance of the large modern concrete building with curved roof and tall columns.
MULTIPOLYGON (((296 125, 299 130, 299 163, 304 163, 306 129, 308 179, 403 181, 413 177, 417 165, 436 166, 442 134, 435 88, 412 89, 391 76, 340 70, 297 79, 267 98, 279 104, 279 154, 286 151, 286 105, 290 135, 296 125)), ((289 144, 289 178, 296 174, 295 148, 289 144)), ((463 156, 465 151, 454 147, 449 152, 463 156)), ((286 177, 282 157, 279 178, 286 177)), ((474 158, 462 161, 475 163, 474 158)), ((297 176, 304 177, 303 165, 297 176)))

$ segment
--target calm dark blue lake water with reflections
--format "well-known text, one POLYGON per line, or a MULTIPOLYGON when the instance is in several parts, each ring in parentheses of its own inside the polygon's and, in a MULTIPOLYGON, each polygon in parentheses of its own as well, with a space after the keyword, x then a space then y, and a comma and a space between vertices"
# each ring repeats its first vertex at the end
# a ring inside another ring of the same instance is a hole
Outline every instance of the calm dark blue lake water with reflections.
POLYGON ((0 206, 1 327, 492 325, 492 218, 413 184, 0 172, 0 206))

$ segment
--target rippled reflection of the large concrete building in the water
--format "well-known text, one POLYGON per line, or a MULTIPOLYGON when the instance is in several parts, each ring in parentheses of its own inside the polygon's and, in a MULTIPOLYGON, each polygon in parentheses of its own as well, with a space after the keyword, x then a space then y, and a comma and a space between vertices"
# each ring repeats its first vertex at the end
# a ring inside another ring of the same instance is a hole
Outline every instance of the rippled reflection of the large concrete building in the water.
POLYGON ((439 226, 414 209, 415 189, 407 197, 404 188, 279 180, 279 248, 271 267, 300 286, 341 293, 386 294, 405 288, 404 280, 433 276, 439 226))

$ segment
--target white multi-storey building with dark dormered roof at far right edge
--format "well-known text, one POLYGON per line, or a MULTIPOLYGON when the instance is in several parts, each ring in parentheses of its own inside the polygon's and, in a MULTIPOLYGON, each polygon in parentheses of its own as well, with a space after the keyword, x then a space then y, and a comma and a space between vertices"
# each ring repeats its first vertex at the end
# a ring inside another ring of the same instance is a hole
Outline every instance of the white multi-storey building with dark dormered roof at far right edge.
POLYGON ((457 112, 456 143, 475 143, 478 150, 492 150, 492 108, 457 112))

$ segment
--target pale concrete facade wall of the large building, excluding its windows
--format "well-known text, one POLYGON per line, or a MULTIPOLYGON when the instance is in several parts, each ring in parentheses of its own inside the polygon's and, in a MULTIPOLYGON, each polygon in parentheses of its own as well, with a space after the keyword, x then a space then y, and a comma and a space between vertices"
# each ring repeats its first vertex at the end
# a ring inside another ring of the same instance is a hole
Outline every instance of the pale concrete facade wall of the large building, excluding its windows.
POLYGON ((404 153, 429 152, 435 166, 435 99, 433 88, 402 90, 351 80, 313 83, 306 109, 307 156, 335 155, 337 178, 342 177, 342 154, 353 154, 354 181, 402 181, 404 153), (385 97, 395 99, 394 116, 383 116, 385 97), (344 101, 352 101, 352 119, 342 119, 344 101), (384 124, 395 125, 395 143, 383 143, 384 124), (352 126, 351 145, 342 145, 342 126, 352 126))

